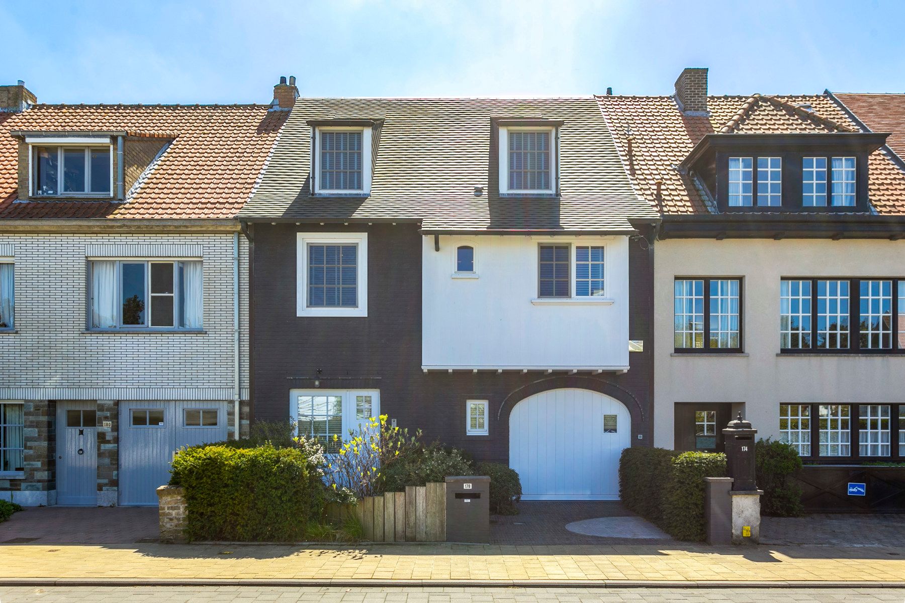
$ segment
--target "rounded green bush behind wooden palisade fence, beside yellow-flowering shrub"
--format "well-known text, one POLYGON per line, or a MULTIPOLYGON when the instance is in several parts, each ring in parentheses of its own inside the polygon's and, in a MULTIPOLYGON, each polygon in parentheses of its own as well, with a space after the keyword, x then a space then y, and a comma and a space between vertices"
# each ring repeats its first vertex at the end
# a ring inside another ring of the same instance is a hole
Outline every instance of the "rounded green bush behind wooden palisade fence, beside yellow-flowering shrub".
POLYGON ((470 476, 472 464, 458 448, 444 448, 433 442, 424 448, 407 450, 382 470, 382 492, 401 492, 406 485, 443 482, 446 476, 470 476))

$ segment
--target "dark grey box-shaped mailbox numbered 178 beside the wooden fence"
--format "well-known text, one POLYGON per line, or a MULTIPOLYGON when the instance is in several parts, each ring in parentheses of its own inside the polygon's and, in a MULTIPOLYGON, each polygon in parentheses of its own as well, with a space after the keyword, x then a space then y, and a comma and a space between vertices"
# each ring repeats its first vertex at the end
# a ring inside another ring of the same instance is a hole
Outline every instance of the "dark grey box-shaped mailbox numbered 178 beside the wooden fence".
POLYGON ((491 542, 491 478, 446 478, 446 542, 491 542))

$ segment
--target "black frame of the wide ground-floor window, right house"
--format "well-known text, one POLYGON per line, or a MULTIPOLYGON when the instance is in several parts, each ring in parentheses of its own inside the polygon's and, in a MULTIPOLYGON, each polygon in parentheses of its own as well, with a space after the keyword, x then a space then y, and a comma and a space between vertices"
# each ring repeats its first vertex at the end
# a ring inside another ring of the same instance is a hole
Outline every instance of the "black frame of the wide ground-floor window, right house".
MULTIPOLYGON (((807 406, 811 409, 811 454, 807 457, 801 457, 802 460, 816 465, 854 465, 870 462, 886 462, 891 463, 905 461, 905 445, 899 444, 899 430, 905 429, 900 424, 899 407, 905 406, 902 401, 883 401, 883 402, 792 402, 783 401, 779 404, 782 406, 807 406), (820 407, 821 406, 847 406, 849 407, 849 450, 847 457, 822 457, 820 456, 820 407), (890 455, 888 457, 863 456, 861 455, 861 407, 862 406, 889 406, 890 407, 890 455)), ((776 410, 779 410, 778 408, 776 410)), ((781 414, 779 415, 781 416, 781 414)), ((776 423, 776 430, 779 430, 779 423, 776 423)), ((780 439, 782 436, 780 435, 780 439)))

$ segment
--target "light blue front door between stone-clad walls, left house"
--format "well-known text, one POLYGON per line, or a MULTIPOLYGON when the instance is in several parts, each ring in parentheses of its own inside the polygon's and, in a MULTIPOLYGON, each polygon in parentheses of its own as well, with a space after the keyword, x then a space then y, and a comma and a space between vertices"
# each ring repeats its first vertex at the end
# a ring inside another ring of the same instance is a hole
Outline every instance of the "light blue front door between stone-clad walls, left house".
POLYGON ((57 402, 57 504, 98 504, 97 402, 57 402))

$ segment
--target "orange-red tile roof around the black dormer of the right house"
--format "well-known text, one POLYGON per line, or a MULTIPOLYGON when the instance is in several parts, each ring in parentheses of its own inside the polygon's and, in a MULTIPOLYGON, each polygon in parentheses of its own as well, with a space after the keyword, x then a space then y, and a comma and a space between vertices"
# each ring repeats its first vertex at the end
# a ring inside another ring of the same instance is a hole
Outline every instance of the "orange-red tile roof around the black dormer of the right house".
MULTIPOLYGON (((710 213, 696 185, 677 169, 708 134, 860 131, 826 94, 713 96, 707 101, 709 117, 682 114, 672 97, 598 96, 597 101, 638 193, 665 214, 710 213)), ((871 155, 870 173, 874 209, 881 214, 905 213, 905 172, 883 149, 871 155)))

